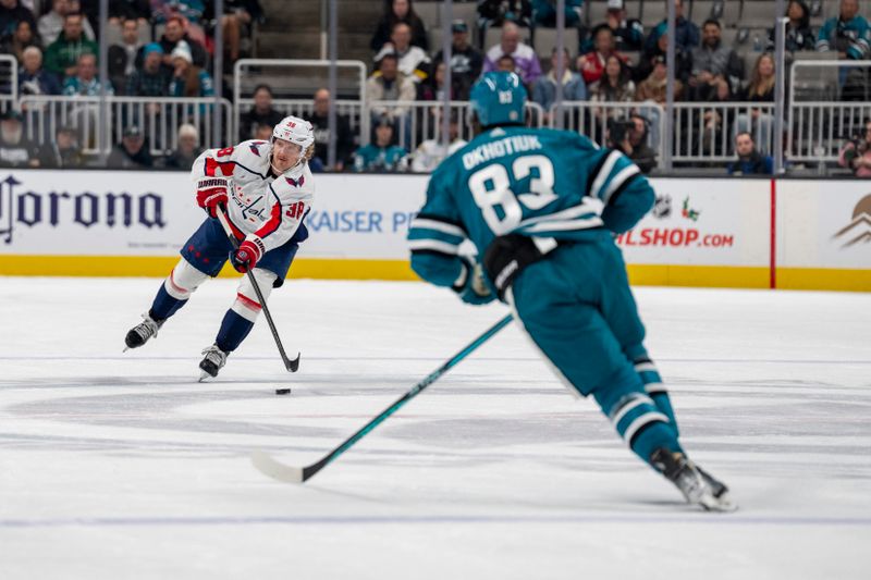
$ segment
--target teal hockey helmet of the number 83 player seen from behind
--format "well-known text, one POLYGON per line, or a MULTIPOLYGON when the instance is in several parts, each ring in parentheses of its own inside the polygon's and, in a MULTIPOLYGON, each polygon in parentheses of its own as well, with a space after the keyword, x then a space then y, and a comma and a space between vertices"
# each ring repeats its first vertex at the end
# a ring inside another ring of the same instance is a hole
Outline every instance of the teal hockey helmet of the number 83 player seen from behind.
POLYGON ((471 87, 469 99, 481 126, 524 122, 526 88, 515 73, 484 73, 471 87))

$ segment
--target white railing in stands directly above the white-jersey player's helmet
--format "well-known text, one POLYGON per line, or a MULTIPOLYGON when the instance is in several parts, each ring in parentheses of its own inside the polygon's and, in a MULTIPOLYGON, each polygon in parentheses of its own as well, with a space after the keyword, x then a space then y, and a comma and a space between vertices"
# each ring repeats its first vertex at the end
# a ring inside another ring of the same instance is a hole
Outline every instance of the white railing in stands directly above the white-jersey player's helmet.
MULTIPOLYGON (((233 65, 233 136, 235 140, 240 140, 240 118, 254 104, 250 95, 257 85, 260 83, 269 85, 278 100, 295 101, 295 97, 300 96, 310 99, 317 89, 326 86, 324 78, 327 78, 330 64, 329 60, 309 59, 237 60, 233 65), (269 69, 272 69, 272 72, 265 73, 269 69), (275 69, 284 69, 283 74, 275 69), (320 71, 317 71, 318 69, 320 71), (299 70, 314 70, 318 74, 305 76, 298 73, 299 70)), ((353 96, 354 100, 363 103, 366 99, 366 64, 363 61, 336 60, 335 69, 341 85, 338 90, 339 96, 353 96)), ((336 95, 332 95, 333 99, 336 97, 336 95)), ((367 134, 368 125, 364 126, 364 129, 366 131, 363 133, 367 134)))

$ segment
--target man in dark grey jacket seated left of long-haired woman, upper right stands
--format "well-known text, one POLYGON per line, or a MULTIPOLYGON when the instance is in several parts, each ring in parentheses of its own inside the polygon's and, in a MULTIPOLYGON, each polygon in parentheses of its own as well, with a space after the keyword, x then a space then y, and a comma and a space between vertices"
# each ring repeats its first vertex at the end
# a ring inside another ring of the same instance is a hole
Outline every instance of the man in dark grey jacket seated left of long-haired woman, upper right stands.
POLYGON ((721 40, 720 23, 708 20, 702 26, 702 45, 692 49, 692 75, 689 77, 689 98, 711 100, 717 85, 725 83, 735 94, 744 78, 744 61, 721 40))

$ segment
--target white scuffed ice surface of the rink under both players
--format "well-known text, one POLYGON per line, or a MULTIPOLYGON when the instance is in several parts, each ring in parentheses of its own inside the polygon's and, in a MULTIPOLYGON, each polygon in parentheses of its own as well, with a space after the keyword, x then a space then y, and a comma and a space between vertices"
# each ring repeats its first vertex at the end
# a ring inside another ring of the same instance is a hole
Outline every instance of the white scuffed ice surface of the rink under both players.
POLYGON ((685 446, 741 509, 638 461, 508 326, 304 486, 505 313, 416 283, 291 281, 199 384, 234 282, 122 354, 157 280, 0 277, 0 578, 867 579, 871 296, 638 288, 685 446), (292 387, 275 396, 277 387, 292 387))

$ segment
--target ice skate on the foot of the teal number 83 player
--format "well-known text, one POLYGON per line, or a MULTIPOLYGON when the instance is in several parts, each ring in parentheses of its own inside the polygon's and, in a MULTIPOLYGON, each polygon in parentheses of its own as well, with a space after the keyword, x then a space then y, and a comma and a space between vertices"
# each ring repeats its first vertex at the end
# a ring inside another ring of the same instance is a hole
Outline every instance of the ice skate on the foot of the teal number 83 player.
POLYGON ((735 511, 738 506, 728 497, 728 489, 697 468, 682 453, 657 449, 650 461, 665 479, 674 483, 687 502, 708 511, 735 511))

